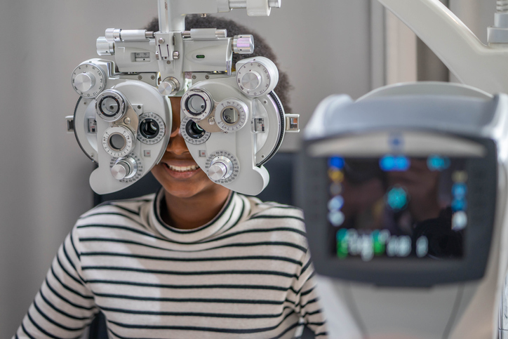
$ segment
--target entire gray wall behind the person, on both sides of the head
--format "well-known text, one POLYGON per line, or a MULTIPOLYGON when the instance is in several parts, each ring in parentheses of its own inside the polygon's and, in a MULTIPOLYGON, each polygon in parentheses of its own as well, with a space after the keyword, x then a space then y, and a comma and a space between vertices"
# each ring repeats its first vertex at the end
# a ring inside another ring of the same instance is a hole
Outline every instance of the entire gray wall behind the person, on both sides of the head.
MULTIPOLYGON (((305 123, 327 95, 358 98, 382 84, 382 14, 372 1, 287 0, 269 18, 227 17, 272 44, 305 123)), ((154 15, 156 0, 0 2, 1 338, 14 333, 58 246, 92 205, 93 166, 65 131, 78 98, 72 69, 97 57, 95 39, 107 27, 140 28, 154 15)), ((296 148, 298 135, 288 135, 283 149, 296 148)))

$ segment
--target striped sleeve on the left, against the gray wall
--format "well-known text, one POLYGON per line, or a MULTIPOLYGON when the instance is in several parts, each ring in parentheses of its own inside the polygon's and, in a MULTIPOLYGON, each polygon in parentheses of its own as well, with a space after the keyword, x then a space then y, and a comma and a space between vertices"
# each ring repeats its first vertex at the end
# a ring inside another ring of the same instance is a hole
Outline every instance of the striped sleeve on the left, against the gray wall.
POLYGON ((97 312, 93 294, 82 278, 74 227, 13 338, 77 338, 97 312))

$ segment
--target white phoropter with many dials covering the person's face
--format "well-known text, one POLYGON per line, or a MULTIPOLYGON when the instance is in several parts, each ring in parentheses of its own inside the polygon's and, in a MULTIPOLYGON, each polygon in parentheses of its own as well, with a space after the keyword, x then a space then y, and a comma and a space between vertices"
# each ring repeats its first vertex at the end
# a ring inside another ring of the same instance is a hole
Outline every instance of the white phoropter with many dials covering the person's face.
POLYGON ((285 114, 273 91, 274 62, 258 57, 232 65, 232 53, 253 53, 253 36, 185 30, 185 15, 246 8, 267 16, 280 6, 280 0, 159 0, 159 32, 106 29, 97 52, 114 61, 90 59, 74 69, 80 98, 66 118, 67 131, 98 164, 92 189, 116 192, 147 174, 166 150, 172 114, 180 114, 177 128, 210 180, 260 193, 269 181, 262 165, 286 131, 299 131, 298 114, 285 114), (182 97, 182 112, 171 112, 168 96, 182 97))

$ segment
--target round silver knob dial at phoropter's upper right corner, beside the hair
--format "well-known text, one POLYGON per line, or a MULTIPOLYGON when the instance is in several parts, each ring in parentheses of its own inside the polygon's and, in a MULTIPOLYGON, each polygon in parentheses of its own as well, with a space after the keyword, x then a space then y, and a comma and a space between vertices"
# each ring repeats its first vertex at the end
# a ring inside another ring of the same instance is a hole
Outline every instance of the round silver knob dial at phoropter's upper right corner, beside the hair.
POLYGON ((236 83, 244 94, 257 98, 274 90, 279 71, 272 60, 256 57, 236 64, 236 83))

